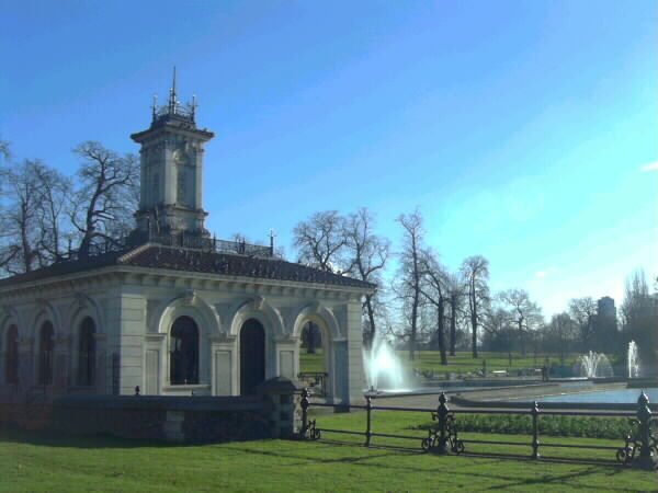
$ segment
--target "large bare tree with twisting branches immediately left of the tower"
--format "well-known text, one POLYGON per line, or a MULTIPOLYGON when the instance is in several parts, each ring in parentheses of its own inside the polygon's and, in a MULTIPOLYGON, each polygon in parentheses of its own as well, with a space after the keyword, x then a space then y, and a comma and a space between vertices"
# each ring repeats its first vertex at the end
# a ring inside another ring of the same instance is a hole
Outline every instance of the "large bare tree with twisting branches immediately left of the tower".
POLYGON ((80 144, 73 152, 83 162, 77 172, 79 188, 72 195, 70 220, 79 238, 78 254, 87 256, 95 242, 117 244, 133 229, 139 161, 94 141, 80 144))

